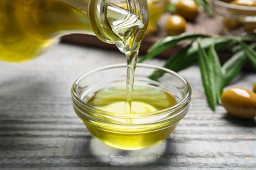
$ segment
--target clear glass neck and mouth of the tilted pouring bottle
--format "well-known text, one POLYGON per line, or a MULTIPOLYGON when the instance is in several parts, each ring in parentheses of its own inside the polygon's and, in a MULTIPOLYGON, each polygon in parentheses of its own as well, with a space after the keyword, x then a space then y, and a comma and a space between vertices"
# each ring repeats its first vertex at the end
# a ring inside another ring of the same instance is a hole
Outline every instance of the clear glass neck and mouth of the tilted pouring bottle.
MULTIPOLYGON (((124 36, 132 37, 131 27, 148 25, 147 0, 98 0, 89 1, 88 15, 95 35, 104 42, 114 44, 123 42, 124 36), (135 23, 137 20, 142 23, 135 23)), ((134 29, 135 30, 135 29, 134 29)), ((144 35, 144 31, 142 35, 144 35)), ((134 32, 134 31, 133 31, 134 32)), ((138 35, 137 35, 138 36, 138 35)))

